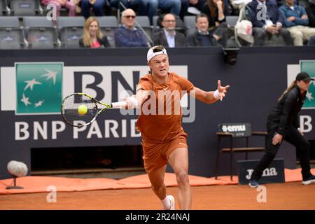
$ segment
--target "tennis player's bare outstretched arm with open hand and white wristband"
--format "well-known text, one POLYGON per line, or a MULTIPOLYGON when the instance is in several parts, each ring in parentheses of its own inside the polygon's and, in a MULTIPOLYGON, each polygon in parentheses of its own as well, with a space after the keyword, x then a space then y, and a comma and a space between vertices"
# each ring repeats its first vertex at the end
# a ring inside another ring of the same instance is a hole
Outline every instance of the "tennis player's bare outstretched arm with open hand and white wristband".
POLYGON ((229 87, 230 85, 221 86, 221 80, 218 80, 218 88, 216 91, 207 92, 198 87, 194 87, 193 91, 190 91, 190 95, 206 104, 213 104, 217 102, 218 99, 222 100, 225 97, 229 87))

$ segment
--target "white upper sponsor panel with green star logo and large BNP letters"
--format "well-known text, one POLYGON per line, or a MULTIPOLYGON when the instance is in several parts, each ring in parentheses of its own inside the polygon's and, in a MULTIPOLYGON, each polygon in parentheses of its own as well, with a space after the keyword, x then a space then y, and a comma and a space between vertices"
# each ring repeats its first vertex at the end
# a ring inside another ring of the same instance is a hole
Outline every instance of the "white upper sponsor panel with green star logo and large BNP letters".
MULTIPOLYGON (((188 78, 188 66, 170 66, 188 78)), ((132 94, 148 66, 64 66, 63 62, 17 62, 1 67, 1 111, 15 115, 60 113, 62 99, 85 92, 102 102, 117 102, 132 94)), ((181 101, 188 106, 188 97, 181 101)))

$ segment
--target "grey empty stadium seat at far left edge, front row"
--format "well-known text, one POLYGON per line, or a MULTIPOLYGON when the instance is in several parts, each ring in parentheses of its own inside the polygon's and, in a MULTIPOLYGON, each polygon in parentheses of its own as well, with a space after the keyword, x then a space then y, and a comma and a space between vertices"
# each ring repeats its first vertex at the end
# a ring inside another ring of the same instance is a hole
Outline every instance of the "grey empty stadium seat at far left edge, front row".
POLYGON ((18 17, 0 17, 0 49, 24 48, 24 34, 18 17))

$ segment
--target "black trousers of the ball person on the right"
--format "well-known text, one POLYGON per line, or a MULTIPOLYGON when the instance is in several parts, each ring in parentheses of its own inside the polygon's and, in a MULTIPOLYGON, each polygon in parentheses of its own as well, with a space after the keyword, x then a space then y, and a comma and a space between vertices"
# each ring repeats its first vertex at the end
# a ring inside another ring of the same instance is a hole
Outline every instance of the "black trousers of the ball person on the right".
MULTIPOLYGON (((274 137, 276 130, 278 130, 278 127, 279 125, 276 123, 267 123, 267 148, 265 155, 262 156, 258 162, 258 165, 253 171, 251 176, 251 179, 253 180, 258 181, 258 179, 260 179, 262 172, 270 165, 272 160, 274 160, 274 157, 280 148, 281 144, 272 144, 272 138, 274 137)), ((309 141, 307 141, 307 139, 305 139, 302 134, 293 126, 288 127, 288 130, 286 130, 283 139, 296 147, 297 154, 300 157, 303 180, 309 178, 309 176, 311 176, 311 167, 309 165, 311 144, 309 144, 309 141)))

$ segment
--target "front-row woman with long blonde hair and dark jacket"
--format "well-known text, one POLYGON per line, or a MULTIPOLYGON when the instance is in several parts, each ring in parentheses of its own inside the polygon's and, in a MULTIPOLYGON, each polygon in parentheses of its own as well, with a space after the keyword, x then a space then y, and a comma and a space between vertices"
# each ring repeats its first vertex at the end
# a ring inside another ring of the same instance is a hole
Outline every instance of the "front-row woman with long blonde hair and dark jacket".
POLYGON ((107 36, 99 29, 99 21, 90 17, 85 21, 83 37, 79 40, 80 48, 110 48, 107 36))

